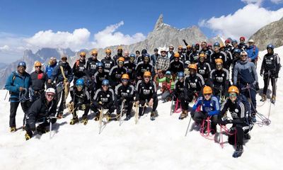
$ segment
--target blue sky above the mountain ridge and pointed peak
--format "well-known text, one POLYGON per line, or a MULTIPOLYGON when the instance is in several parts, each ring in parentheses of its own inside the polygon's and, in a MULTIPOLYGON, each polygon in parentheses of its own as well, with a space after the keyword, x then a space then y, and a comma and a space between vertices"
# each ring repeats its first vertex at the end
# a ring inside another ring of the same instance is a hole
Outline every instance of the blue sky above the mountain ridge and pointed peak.
MULTIPOLYGON (((101 38, 105 34, 94 37, 96 33, 105 30, 108 26, 114 26, 114 28, 110 30, 112 35, 117 32, 122 33, 123 36, 120 36, 121 39, 125 38, 124 35, 129 35, 127 37, 129 40, 120 43, 132 43, 144 39, 146 35, 153 30, 154 24, 161 13, 163 13, 164 23, 168 23, 176 28, 187 28, 195 25, 200 26, 201 30, 208 37, 219 34, 236 37, 239 33, 230 31, 233 30, 233 24, 226 26, 225 23, 227 22, 225 19, 229 20, 229 15, 231 15, 231 17, 234 16, 234 18, 236 18, 235 22, 237 22, 238 19, 241 20, 242 18, 241 15, 236 15, 236 11, 243 9, 242 13, 248 13, 247 11, 250 10, 250 8, 254 10, 263 8, 267 11, 265 14, 267 18, 265 22, 269 23, 272 20, 277 20, 279 18, 278 15, 282 14, 282 11, 279 10, 283 8, 283 4, 282 0, 0 0, 0 56, 16 55, 15 50, 11 52, 13 49, 17 49, 18 55, 20 55, 23 49, 31 48, 35 50, 44 47, 45 43, 38 43, 38 41, 46 40, 48 35, 54 34, 52 38, 56 38, 57 31, 61 31, 67 34, 61 36, 62 38, 69 34, 72 35, 72 33, 74 34, 74 30, 82 28, 83 30, 78 30, 78 35, 81 36, 80 40, 90 41, 86 48, 91 47, 91 45, 98 45, 98 47, 111 45, 109 44, 111 42, 104 42, 99 39, 99 37, 101 38), (277 11, 279 14, 270 17, 268 12, 272 11, 277 11), (224 16, 224 18, 221 18, 221 16, 224 16), (216 20, 213 19, 213 17, 216 18, 216 20), (223 24, 218 26, 218 23, 221 22, 223 24), (230 28, 230 30, 224 30, 223 27, 230 28), (52 31, 46 33, 45 31, 47 30, 52 31), (35 34, 40 31, 43 31, 43 33, 35 37, 35 34), (38 46, 38 44, 40 44, 40 46, 38 46)), ((247 16, 247 18, 248 17, 250 16, 247 16)), ((250 18, 250 20, 258 19, 260 18, 250 18)), ((260 25, 260 20, 258 22, 258 27, 262 26, 260 25)), ((253 29, 256 30, 258 28, 253 29)), ((243 33, 243 35, 245 35, 245 33, 243 33)), ((246 33, 246 35, 248 36, 250 33, 246 33)), ((113 36, 115 37, 116 35, 113 36)), ((62 44, 62 42, 60 43, 62 44)), ((54 43, 48 42, 46 46, 48 47, 50 44, 54 43)), ((82 44, 72 44, 72 42, 67 43, 63 47, 68 47, 68 45, 72 50, 78 50, 74 49, 76 45, 78 48, 83 47, 82 44)))

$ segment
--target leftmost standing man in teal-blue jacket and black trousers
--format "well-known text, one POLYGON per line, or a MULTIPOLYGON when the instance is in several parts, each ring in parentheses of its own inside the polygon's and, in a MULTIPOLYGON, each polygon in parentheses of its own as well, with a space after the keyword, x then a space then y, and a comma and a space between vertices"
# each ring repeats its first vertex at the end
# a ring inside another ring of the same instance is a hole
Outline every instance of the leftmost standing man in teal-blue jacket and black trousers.
MULTIPOLYGON (((5 89, 10 93, 10 132, 16 132, 16 112, 21 103, 23 113, 28 113, 29 101, 20 101, 20 93, 26 91, 31 85, 30 74, 25 72, 25 62, 19 62, 17 71, 12 72, 6 80, 5 89)), ((25 125, 25 115, 23 116, 23 127, 25 125)))

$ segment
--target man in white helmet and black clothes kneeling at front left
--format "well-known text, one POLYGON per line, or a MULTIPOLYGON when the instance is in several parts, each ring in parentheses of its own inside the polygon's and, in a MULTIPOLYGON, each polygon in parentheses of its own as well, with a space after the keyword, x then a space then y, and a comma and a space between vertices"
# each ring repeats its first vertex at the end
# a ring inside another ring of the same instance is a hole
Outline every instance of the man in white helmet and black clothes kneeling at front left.
POLYGON ((36 130, 39 133, 48 132, 46 130, 47 125, 51 123, 56 123, 56 101, 54 100, 55 89, 49 88, 42 94, 33 105, 28 110, 26 115, 26 125, 25 125, 25 140, 29 140, 33 137, 33 132, 35 131, 35 123, 40 123, 36 130))

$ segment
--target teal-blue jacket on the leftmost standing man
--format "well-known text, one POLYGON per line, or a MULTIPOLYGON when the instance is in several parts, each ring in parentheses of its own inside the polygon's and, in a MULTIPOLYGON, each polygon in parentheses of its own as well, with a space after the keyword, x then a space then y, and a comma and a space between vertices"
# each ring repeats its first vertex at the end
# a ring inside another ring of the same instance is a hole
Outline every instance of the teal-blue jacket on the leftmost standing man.
POLYGON ((31 85, 30 74, 25 72, 22 76, 18 72, 12 72, 5 84, 5 89, 11 91, 10 101, 19 102, 20 87, 28 89, 31 85), (14 78, 14 79, 13 79, 14 78))

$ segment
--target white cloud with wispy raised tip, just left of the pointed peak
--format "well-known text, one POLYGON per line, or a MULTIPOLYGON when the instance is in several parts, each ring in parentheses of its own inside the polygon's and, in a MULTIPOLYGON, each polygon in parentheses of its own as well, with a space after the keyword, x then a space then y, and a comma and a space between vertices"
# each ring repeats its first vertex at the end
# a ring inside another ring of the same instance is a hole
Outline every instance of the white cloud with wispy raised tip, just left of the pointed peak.
POLYGON ((134 35, 124 35, 116 30, 123 26, 124 22, 116 23, 106 27, 104 30, 96 33, 93 38, 94 47, 107 47, 110 45, 130 45, 135 42, 144 40, 146 37, 142 33, 135 33, 134 35))

